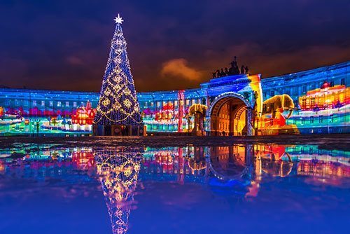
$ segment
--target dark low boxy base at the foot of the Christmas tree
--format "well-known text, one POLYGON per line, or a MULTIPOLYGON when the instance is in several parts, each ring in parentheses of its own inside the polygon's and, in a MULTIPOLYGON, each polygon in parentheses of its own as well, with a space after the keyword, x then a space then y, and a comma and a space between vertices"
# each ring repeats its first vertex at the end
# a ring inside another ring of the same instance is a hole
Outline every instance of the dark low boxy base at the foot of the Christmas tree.
POLYGON ((144 125, 93 125, 94 136, 146 136, 144 125))

